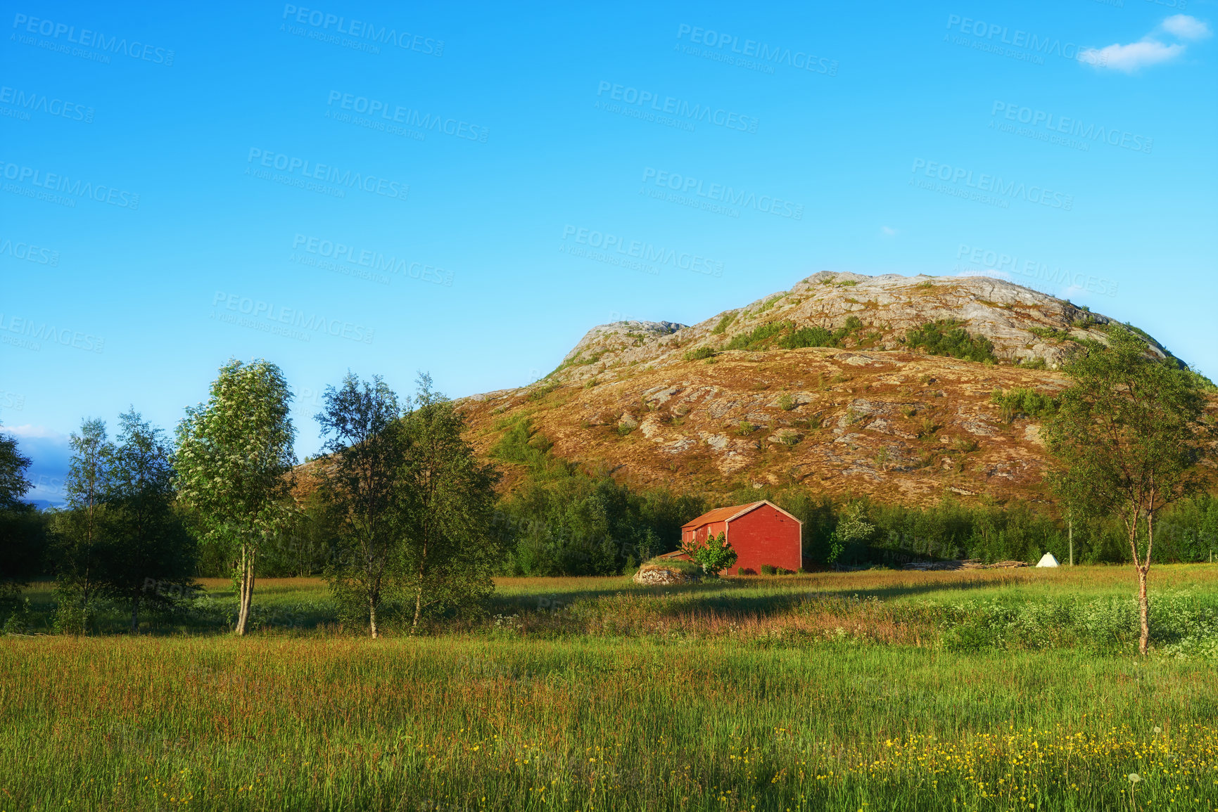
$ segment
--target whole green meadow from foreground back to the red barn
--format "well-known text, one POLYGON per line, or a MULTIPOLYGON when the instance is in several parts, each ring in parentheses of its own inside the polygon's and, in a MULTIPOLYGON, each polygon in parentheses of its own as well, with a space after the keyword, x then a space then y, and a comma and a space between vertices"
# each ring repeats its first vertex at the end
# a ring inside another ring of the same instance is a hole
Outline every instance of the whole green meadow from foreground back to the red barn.
POLYGON ((505 579, 381 640, 262 582, 300 622, 0 638, 0 811, 1214 810, 1216 575, 1155 571, 1142 661, 1114 567, 505 579))

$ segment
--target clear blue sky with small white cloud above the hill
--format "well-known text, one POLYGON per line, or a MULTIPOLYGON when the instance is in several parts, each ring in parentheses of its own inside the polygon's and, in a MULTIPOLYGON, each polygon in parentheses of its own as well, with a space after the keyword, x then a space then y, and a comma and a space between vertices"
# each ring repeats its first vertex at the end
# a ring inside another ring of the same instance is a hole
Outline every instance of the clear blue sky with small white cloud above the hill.
POLYGON ((10 6, 0 421, 278 363, 453 397, 820 270, 1005 273, 1211 377, 1213 1, 10 6), (1185 7, 1185 2, 1188 6, 1185 7))

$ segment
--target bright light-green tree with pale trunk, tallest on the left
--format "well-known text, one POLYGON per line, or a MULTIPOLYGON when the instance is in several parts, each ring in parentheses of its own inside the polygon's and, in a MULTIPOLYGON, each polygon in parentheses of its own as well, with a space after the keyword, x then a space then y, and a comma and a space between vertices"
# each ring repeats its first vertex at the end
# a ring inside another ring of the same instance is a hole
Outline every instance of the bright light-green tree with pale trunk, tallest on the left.
POLYGON ((178 493, 199 513, 205 541, 233 553, 238 635, 250 621, 258 550, 292 513, 291 398, 275 364, 230 360, 207 403, 186 409, 178 425, 178 493))

